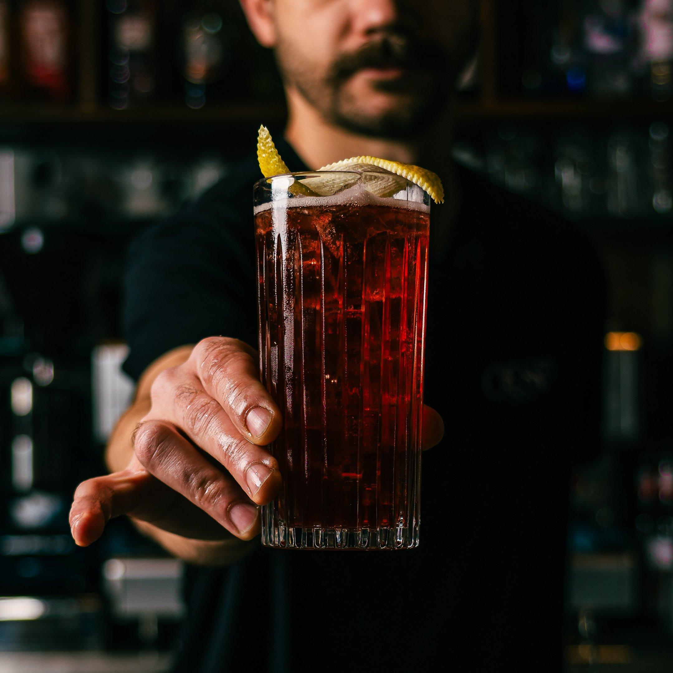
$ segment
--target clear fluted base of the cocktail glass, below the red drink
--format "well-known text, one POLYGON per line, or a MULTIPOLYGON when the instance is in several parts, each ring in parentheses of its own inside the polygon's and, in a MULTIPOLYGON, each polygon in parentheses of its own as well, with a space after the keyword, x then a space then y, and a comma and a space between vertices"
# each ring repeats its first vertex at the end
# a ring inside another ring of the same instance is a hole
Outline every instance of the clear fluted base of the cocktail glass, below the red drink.
POLYGON ((262 524, 262 545, 275 549, 413 549, 419 526, 398 528, 297 528, 262 524))

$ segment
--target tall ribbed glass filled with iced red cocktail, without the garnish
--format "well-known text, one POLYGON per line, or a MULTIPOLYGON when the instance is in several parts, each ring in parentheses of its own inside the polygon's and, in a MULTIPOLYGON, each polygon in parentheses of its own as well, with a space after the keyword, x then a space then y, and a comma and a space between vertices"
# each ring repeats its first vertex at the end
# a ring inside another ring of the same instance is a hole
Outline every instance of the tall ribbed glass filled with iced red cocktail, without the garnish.
POLYGON ((255 186, 260 374, 283 413, 265 546, 419 544, 429 201, 362 179, 320 198, 255 186))

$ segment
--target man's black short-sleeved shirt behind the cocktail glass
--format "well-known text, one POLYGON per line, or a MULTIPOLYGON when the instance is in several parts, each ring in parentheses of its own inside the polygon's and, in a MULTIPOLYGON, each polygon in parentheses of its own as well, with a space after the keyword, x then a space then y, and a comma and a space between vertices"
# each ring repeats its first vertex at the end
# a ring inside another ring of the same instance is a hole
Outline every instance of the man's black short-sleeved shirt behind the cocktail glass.
MULTIPOLYGON (((259 177, 251 155, 133 244, 131 376, 206 336, 256 345, 259 177)), ((599 444, 602 274, 571 224, 465 169, 459 182, 429 271, 425 401, 446 435, 423 456, 419 548, 260 548, 190 569, 176 670, 561 669, 569 470, 599 444)))

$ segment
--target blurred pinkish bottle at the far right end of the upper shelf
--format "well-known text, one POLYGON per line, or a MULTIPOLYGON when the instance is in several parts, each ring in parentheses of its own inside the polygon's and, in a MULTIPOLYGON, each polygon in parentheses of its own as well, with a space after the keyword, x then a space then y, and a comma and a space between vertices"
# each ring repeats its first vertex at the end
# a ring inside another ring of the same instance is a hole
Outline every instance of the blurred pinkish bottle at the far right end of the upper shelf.
POLYGON ((668 100, 673 86, 673 0, 642 0, 638 23, 645 88, 654 100, 668 100))

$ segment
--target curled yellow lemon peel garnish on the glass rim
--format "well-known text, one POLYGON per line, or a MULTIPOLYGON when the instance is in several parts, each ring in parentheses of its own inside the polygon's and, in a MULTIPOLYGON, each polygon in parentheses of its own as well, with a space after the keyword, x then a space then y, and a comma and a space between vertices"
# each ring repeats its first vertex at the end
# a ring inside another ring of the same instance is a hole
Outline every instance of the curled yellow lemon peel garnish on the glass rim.
MULTIPOLYGON (((257 160, 264 178, 273 178, 291 172, 281 159, 271 133, 265 126, 260 126, 258 131, 257 160)), ((400 164, 400 162, 377 157, 359 156, 323 166, 318 172, 320 171, 343 171, 344 173, 313 175, 295 180, 289 186, 290 192, 310 197, 328 197, 361 179, 364 188, 371 194, 376 194, 378 197, 392 197, 402 190, 406 180, 409 180, 425 190, 435 203, 444 203, 444 187, 441 185, 441 180, 437 174, 420 166, 400 164), (373 166, 379 168, 380 171, 371 171, 373 166), (353 172, 353 176, 347 175, 347 172, 353 172)))

